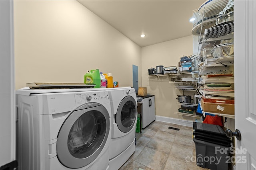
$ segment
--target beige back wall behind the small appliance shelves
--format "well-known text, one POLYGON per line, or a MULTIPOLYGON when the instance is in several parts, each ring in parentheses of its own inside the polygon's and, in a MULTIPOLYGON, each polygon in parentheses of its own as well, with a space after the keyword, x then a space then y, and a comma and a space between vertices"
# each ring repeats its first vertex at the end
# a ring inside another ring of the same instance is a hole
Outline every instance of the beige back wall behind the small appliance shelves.
MULTIPOLYGON (((182 92, 174 90, 174 83, 170 83, 171 76, 148 77, 148 68, 156 68, 158 65, 177 66, 180 57, 193 54, 193 36, 183 37, 147 47, 142 47, 142 86, 147 87, 150 94, 156 98, 156 115, 172 117, 176 119, 193 120, 192 117, 174 114, 180 107, 177 94, 182 92)), ((192 95, 193 92, 186 92, 192 95)))

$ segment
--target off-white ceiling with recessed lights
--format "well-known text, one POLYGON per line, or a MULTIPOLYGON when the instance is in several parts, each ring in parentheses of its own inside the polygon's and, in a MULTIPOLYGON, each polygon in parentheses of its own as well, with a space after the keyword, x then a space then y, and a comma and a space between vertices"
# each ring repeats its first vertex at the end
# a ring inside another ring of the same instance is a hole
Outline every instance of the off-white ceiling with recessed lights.
POLYGON ((192 35, 189 19, 204 0, 78 0, 140 47, 192 35), (146 34, 141 38, 140 34, 146 34))

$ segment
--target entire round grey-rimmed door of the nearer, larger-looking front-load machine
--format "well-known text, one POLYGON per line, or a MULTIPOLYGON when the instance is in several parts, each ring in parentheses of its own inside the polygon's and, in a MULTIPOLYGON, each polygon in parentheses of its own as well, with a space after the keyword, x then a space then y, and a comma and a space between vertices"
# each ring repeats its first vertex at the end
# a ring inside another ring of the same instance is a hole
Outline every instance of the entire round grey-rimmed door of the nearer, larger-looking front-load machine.
POLYGON ((58 134, 58 159, 68 168, 90 164, 105 146, 109 128, 109 113, 103 106, 74 111, 58 134))

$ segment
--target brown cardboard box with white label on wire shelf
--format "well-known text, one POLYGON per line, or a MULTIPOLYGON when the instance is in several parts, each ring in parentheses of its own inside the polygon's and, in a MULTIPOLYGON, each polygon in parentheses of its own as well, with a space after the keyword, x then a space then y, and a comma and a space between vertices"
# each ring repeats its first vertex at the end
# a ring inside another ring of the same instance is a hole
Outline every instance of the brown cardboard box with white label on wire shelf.
POLYGON ((220 113, 220 114, 227 114, 227 115, 235 114, 234 104, 209 103, 209 102, 203 102, 201 100, 200 105, 204 112, 220 113))

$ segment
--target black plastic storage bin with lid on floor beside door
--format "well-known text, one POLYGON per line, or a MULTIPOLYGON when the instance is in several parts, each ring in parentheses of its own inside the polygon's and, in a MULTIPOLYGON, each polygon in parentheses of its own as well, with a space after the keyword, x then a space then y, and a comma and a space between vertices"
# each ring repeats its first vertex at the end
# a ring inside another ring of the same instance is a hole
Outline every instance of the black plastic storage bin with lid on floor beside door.
POLYGON ((229 152, 233 146, 219 125, 193 122, 196 164, 211 170, 228 170, 229 152))

